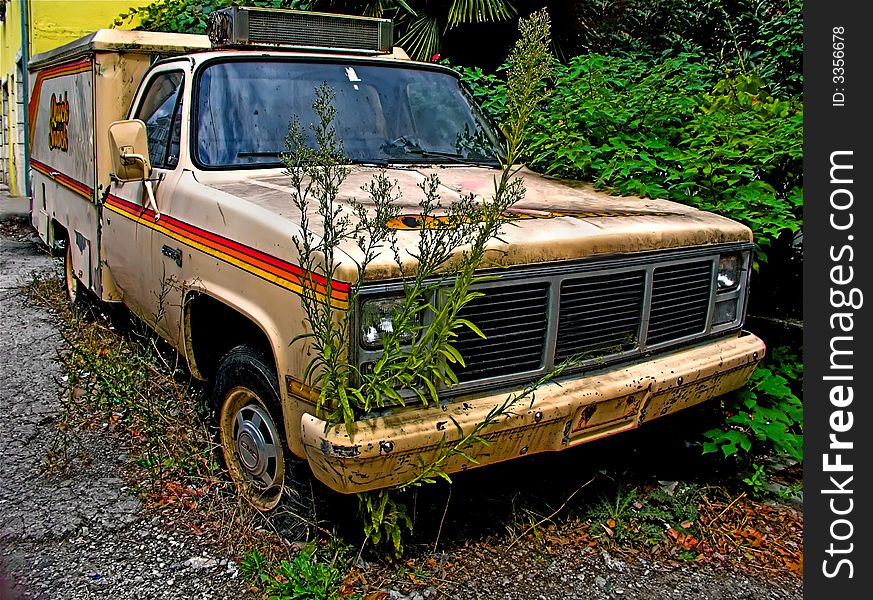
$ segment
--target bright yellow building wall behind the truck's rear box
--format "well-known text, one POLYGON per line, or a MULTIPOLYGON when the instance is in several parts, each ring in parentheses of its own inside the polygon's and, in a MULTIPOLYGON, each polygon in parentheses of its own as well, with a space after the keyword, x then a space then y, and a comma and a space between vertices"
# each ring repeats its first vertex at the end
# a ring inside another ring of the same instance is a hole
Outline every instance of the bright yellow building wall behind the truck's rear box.
MULTIPOLYGON (((6 2, 6 20, 0 23, 0 80, 7 83, 15 80, 15 57, 21 49, 21 0, 0 0, 6 2)), ((152 0, 26 0, 29 7, 29 48, 27 56, 46 52, 67 42, 72 42, 97 29, 112 26, 115 18, 127 12, 130 7, 144 6, 152 0)), ((125 23, 122 28, 130 29, 136 22, 125 23)), ((9 144, 0 147, 4 181, 13 194, 23 194, 23 165, 19 164, 21 149, 17 123, 21 121, 16 106, 20 109, 20 98, 11 85, 9 106, 4 124, 8 127, 6 140, 9 144)))

